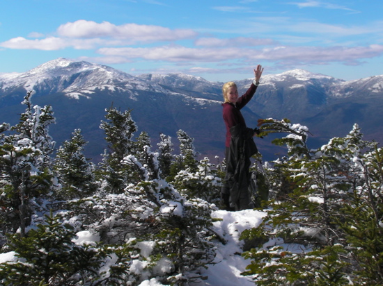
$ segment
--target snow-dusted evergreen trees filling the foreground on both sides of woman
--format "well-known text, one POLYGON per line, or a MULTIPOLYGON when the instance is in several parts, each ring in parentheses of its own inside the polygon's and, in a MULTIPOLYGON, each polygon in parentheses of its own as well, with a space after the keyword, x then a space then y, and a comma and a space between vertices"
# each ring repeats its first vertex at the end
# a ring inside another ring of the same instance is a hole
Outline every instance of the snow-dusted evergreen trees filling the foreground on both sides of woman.
MULTIPOLYGON (((97 165, 81 130, 61 146, 49 135, 50 106, 31 93, 14 126, 0 125, 0 263, 3 285, 204 285, 217 246, 224 162, 198 161, 177 132, 152 146, 130 110, 107 108, 109 148, 97 165), (56 151, 56 152, 55 152, 56 151), (81 235, 80 235, 81 233, 81 235), (88 241, 79 241, 84 237, 88 241), (149 284, 149 282, 152 284, 149 284)), ((383 151, 357 124, 309 149, 308 127, 258 122, 288 153, 254 158, 263 222, 244 230, 243 276, 256 285, 382 285, 383 151)))

